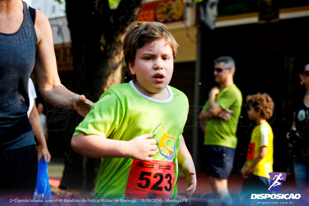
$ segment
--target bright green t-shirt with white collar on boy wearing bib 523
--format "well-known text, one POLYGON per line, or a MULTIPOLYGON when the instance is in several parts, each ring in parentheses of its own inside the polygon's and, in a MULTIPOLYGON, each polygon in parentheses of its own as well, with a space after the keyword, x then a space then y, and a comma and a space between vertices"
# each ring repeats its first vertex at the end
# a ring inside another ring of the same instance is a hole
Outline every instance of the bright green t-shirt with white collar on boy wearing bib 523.
MULTIPOLYGON (((188 99, 181 91, 167 86, 170 97, 152 99, 140 93, 133 81, 108 89, 95 103, 74 135, 84 132, 102 138, 129 141, 153 132, 158 150, 154 160, 175 162, 175 184, 172 198, 177 195, 177 154, 180 137, 188 115, 188 99), (162 138, 163 139, 163 138, 162 138)), ((132 158, 103 158, 99 168, 94 197, 124 198, 132 158)), ((142 184, 145 184, 142 182, 142 184)))

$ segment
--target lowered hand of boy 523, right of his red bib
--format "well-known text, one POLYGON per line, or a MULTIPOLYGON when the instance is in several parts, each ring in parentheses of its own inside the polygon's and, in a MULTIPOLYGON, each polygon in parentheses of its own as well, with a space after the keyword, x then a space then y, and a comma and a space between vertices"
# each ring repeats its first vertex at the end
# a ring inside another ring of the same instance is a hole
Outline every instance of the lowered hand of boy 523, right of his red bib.
POLYGON ((182 171, 188 183, 188 188, 185 191, 186 197, 190 197, 196 189, 196 173, 195 168, 190 163, 184 162, 182 171))

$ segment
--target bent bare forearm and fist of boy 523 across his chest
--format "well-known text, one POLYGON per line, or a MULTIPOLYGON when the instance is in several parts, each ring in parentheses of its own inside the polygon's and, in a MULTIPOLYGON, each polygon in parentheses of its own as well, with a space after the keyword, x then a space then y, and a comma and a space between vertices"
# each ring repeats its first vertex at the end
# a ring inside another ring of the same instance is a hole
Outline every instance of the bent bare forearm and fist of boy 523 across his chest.
POLYGON ((149 139, 152 135, 143 134, 130 141, 122 141, 81 132, 72 137, 71 145, 76 152, 93 158, 133 158, 149 162, 158 149, 157 141, 149 139))

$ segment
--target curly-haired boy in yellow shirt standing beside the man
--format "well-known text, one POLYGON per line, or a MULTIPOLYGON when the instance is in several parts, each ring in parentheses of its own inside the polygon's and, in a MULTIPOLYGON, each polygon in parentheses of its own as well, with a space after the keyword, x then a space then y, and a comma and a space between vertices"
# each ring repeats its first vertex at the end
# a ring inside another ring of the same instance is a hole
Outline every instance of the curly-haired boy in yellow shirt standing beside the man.
POLYGON ((255 120, 251 140, 241 174, 242 195, 261 193, 269 187, 269 172, 273 172, 273 131, 266 120, 273 116, 274 102, 266 93, 248 95, 249 119, 255 120))

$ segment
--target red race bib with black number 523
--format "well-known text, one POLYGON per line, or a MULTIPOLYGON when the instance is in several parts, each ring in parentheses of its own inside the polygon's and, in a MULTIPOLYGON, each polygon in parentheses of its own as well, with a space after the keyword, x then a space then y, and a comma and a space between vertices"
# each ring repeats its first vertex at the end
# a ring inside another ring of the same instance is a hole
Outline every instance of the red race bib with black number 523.
POLYGON ((174 184, 174 162, 133 160, 125 197, 130 199, 171 199, 174 184))

